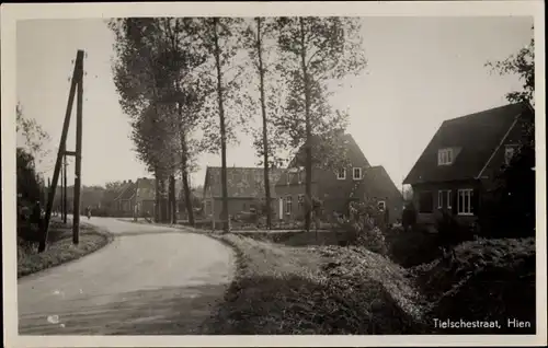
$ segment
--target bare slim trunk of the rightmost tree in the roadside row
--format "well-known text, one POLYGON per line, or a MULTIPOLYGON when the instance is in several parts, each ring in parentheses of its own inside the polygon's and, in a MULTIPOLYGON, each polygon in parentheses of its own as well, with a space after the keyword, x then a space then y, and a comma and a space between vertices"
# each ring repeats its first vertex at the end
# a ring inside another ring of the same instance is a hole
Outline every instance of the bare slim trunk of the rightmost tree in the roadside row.
MULTIPOLYGON (((301 42, 301 68, 302 68, 302 78, 305 82, 305 123, 306 123, 306 162, 305 162, 305 172, 306 172, 306 197, 308 201, 312 201, 312 130, 310 124, 310 81, 307 71, 307 62, 306 62, 306 43, 305 43, 305 20, 302 18, 299 19, 300 22, 300 42, 301 42)), ((305 213, 305 229, 307 232, 310 232, 310 223, 311 223, 311 209, 307 209, 305 213)))

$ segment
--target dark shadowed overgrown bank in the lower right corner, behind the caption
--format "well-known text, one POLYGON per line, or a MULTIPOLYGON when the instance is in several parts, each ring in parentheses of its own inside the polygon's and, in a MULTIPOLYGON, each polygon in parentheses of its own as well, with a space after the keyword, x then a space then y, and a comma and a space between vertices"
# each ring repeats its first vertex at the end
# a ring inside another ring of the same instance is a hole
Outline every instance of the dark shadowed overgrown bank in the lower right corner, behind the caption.
POLYGON ((432 317, 499 321, 501 328, 465 334, 535 333, 535 241, 479 240, 455 248, 455 257, 416 267, 422 291, 432 302, 432 317), (528 329, 507 320, 528 321, 528 329))

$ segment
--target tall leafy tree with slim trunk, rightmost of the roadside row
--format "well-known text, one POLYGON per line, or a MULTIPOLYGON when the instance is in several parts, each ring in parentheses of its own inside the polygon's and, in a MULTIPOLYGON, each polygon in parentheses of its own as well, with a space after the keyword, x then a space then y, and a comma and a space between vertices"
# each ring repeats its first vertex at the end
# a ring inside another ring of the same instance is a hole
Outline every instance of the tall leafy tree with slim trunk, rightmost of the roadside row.
MULTIPOLYGON (((288 93, 285 113, 275 124, 281 135, 287 135, 292 147, 305 146, 306 200, 310 202, 315 162, 333 167, 344 159, 335 151, 313 151, 313 138, 321 139, 316 147, 335 149, 336 130, 346 127, 347 114, 333 111, 328 103, 331 93, 328 82, 357 74, 365 67, 361 26, 356 19, 350 18, 279 18, 277 27, 281 50, 277 69, 288 93), (334 155, 324 158, 330 154, 334 155)), ((307 209, 307 231, 310 222, 311 209, 307 209)))

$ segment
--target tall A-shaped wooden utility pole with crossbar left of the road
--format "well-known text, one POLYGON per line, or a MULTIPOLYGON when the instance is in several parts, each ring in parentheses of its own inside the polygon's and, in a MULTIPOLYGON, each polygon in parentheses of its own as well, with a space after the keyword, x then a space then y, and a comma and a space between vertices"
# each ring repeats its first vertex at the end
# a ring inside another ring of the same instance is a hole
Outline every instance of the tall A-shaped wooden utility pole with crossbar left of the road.
MULTIPOLYGON (((72 79, 69 91, 69 98, 67 103, 67 111, 65 113, 65 121, 62 124, 61 139, 59 143, 59 150, 57 152, 57 161, 55 162, 54 177, 52 179, 52 186, 49 188, 49 194, 47 197, 47 206, 46 206, 46 216, 44 223, 44 233, 42 235, 42 240, 38 246, 38 253, 42 253, 46 250, 47 243, 47 234, 49 230, 49 221, 52 218, 52 209, 54 205, 55 190, 57 188, 57 183, 59 181, 59 174, 61 171, 61 162, 64 156, 66 155, 75 155, 77 158, 77 166, 75 170, 76 178, 75 178, 75 201, 78 200, 78 204, 75 202, 75 208, 79 209, 80 201, 80 169, 81 169, 81 150, 82 150, 82 80, 83 80, 83 50, 78 50, 75 61, 75 70, 72 71, 72 79), (70 125, 70 116, 72 114, 72 104, 75 103, 75 94, 77 92, 78 86, 78 108, 77 108, 77 139, 76 139, 76 151, 67 151, 67 135, 70 125), (76 197, 76 192, 78 190, 78 197, 76 197), (77 199, 78 198, 78 199, 77 199)), ((65 173, 66 174, 66 173, 65 173)), ((65 175, 66 179, 66 175, 65 175)), ((73 242, 78 243, 78 233, 79 233, 79 221, 80 221, 80 211, 76 210, 72 212, 72 232, 73 232, 73 242)))

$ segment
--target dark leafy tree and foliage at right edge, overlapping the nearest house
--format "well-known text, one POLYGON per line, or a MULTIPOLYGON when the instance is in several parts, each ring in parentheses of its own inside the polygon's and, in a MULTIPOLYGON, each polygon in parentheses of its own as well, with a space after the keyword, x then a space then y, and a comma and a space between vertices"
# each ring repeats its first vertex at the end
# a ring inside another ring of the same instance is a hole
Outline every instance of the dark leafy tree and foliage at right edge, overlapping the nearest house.
POLYGON ((535 40, 504 60, 488 62, 500 74, 517 74, 523 81, 518 91, 506 94, 512 103, 523 103, 532 117, 523 118, 523 137, 518 151, 496 177, 496 188, 482 218, 482 228, 495 236, 535 235, 535 40), (509 218, 510 217, 510 218, 509 218))

